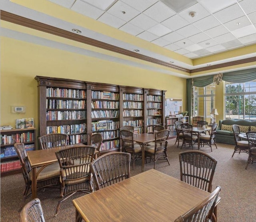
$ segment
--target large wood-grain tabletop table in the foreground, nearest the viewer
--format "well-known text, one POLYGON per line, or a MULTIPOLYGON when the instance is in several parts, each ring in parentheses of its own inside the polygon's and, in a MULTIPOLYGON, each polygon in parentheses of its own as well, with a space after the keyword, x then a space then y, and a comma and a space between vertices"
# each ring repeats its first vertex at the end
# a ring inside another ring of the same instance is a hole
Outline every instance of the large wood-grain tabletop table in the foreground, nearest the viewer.
POLYGON ((209 193, 157 170, 132 176, 72 200, 76 221, 170 222, 209 193))

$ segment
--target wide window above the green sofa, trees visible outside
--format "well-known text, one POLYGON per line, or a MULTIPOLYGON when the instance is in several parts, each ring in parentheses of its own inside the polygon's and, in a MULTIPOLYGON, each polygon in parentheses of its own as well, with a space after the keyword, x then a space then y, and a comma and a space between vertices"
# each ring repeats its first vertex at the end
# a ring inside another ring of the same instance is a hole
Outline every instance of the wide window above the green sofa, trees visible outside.
POLYGON ((225 82, 225 117, 232 120, 256 120, 256 80, 225 82))

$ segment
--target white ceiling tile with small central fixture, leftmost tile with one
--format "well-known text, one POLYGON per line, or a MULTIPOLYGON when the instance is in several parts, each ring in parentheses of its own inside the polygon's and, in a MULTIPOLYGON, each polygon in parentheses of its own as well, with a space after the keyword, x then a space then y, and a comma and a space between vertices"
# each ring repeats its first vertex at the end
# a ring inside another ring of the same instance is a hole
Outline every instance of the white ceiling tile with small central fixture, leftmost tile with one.
POLYGON ((136 17, 138 14, 140 14, 138 10, 120 1, 116 2, 110 9, 108 9, 107 12, 126 22, 130 21, 131 19, 136 17))

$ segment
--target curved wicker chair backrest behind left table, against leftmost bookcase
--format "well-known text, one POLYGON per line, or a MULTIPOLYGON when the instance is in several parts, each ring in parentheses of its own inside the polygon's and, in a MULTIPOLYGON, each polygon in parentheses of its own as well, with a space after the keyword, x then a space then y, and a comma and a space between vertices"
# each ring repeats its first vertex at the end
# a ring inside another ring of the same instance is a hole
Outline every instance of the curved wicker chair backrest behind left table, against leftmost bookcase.
POLYGON ((67 144, 68 135, 61 133, 51 133, 38 138, 42 150, 56 146, 65 146, 67 144))

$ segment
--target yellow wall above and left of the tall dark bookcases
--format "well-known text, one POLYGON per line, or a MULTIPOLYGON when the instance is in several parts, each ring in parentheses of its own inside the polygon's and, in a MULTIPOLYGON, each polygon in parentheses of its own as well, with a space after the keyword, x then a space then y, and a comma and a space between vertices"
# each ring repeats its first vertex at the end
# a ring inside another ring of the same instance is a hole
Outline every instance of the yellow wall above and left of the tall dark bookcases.
POLYGON ((166 97, 182 98, 186 104, 184 78, 1 37, 1 126, 34 118, 37 128, 35 76, 167 90, 166 97), (26 106, 26 113, 13 114, 11 106, 26 106))

